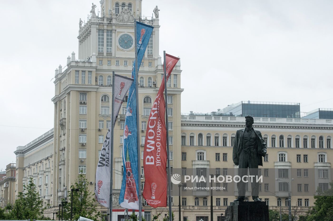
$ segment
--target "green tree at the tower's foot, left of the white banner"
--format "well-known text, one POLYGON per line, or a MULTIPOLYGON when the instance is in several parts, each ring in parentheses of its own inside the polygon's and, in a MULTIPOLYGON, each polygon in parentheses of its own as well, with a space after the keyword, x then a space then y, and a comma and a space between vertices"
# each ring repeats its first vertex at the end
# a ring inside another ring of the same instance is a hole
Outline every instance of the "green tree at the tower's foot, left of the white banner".
MULTIPOLYGON (((73 191, 73 220, 77 220, 80 216, 100 220, 101 213, 97 212, 97 202, 95 193, 88 190, 87 179, 85 175, 79 174, 78 179, 70 189, 79 189, 78 192, 73 191)), ((71 191, 68 191, 68 203, 64 206, 64 220, 71 218, 71 191)), ((63 200, 65 201, 65 200, 63 200)), ((61 216, 61 214, 58 214, 61 216)))

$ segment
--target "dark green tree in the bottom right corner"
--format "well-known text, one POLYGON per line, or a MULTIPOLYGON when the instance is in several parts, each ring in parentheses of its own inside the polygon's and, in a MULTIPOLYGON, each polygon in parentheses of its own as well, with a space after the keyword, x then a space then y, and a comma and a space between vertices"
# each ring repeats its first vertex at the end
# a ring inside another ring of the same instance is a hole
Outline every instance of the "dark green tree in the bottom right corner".
POLYGON ((307 221, 333 221, 333 182, 330 186, 326 191, 318 187, 318 195, 314 196, 316 201, 308 212, 307 221))

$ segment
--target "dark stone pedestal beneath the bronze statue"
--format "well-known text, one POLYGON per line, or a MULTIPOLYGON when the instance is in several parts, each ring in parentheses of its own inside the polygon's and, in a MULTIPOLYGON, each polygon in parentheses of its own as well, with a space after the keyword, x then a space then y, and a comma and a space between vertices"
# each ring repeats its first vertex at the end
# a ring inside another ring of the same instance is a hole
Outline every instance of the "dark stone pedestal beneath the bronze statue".
POLYGON ((225 210, 225 221, 269 221, 266 202, 231 202, 225 210))

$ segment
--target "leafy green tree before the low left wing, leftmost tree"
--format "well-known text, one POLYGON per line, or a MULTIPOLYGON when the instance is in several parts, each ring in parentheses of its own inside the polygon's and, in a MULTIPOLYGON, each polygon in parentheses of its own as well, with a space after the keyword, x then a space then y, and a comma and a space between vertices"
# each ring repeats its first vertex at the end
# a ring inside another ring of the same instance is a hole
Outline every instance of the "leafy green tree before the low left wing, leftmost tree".
POLYGON ((8 204, 5 209, 8 210, 7 219, 42 219, 45 208, 32 177, 28 185, 23 186, 23 192, 19 192, 14 205, 8 204))

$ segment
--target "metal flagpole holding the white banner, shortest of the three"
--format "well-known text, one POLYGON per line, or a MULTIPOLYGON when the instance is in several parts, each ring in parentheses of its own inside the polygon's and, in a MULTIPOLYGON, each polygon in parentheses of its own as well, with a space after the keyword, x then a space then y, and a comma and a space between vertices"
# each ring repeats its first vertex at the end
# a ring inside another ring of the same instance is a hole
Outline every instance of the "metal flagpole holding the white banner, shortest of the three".
POLYGON ((114 105, 115 105, 115 72, 112 72, 112 109, 111 109, 111 137, 110 137, 110 145, 111 145, 111 162, 110 162, 110 200, 109 200, 109 209, 110 209, 110 215, 109 215, 109 220, 112 221, 112 186, 113 186, 113 132, 114 132, 114 127, 113 127, 113 115, 114 113, 114 105))

